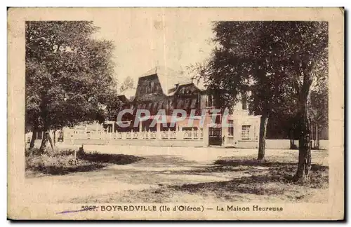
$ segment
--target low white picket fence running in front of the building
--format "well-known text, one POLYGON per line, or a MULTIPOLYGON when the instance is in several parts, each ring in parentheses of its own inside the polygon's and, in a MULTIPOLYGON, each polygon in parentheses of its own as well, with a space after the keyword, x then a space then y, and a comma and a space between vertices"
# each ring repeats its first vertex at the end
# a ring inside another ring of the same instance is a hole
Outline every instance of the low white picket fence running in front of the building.
POLYGON ((70 139, 204 139, 204 130, 144 132, 74 132, 70 139))

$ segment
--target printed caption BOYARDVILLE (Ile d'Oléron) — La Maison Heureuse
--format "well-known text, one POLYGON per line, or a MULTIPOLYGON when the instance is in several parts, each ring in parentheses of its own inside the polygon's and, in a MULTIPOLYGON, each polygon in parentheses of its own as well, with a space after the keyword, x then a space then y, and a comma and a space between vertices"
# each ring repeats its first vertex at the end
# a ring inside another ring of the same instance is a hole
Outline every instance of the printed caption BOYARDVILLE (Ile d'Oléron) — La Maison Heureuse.
MULTIPOLYGON (((94 206, 95 207, 95 206, 94 206)), ((101 205, 95 211, 102 212, 204 212, 211 209, 218 212, 282 212, 283 207, 252 205, 251 207, 223 205, 216 207, 192 205, 101 205)))

